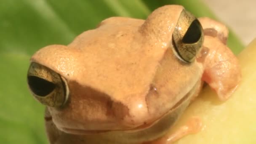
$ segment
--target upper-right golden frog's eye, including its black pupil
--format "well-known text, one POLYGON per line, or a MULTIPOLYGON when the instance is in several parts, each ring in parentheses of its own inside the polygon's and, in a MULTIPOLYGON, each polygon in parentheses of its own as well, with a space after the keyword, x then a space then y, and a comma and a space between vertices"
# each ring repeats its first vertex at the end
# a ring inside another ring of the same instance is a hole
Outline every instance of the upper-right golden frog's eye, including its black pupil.
POLYGON ((173 46, 176 56, 185 62, 192 62, 203 43, 203 28, 200 22, 186 10, 181 12, 173 31, 173 46))

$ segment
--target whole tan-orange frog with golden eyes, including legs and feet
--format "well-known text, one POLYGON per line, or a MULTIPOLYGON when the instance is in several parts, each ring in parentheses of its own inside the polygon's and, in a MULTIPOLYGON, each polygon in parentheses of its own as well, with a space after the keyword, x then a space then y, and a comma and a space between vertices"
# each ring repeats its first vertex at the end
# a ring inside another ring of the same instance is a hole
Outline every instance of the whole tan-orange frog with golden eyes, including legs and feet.
POLYGON ((110 17, 69 45, 41 48, 27 83, 46 106, 49 142, 171 144, 199 132, 200 117, 170 130, 205 84, 220 101, 239 85, 227 37, 224 24, 165 5, 146 20, 110 17))

